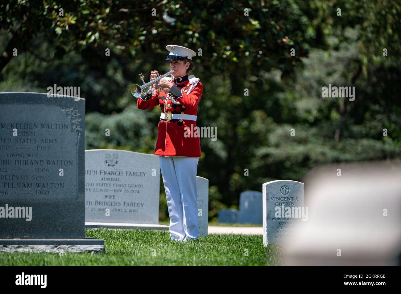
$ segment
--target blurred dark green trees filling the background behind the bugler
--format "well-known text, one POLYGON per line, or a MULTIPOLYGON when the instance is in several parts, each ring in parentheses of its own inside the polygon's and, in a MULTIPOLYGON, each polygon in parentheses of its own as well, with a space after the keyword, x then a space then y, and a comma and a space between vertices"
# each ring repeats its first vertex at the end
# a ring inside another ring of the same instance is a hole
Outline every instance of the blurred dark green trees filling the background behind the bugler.
POLYGON ((213 219, 266 181, 400 157, 400 18, 390 0, 2 2, 0 91, 79 86, 87 149, 154 153, 160 110, 138 110, 129 87, 168 71, 167 44, 192 48, 197 124, 217 127, 198 164, 213 219), (329 84, 355 87, 355 100, 322 98, 329 84))

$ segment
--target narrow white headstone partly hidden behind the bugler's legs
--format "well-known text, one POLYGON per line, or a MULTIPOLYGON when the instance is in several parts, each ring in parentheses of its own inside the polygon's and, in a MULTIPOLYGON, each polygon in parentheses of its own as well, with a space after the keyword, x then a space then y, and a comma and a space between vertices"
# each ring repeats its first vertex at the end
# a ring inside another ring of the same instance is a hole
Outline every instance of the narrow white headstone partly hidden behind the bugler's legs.
POLYGON ((196 189, 198 191, 199 237, 203 237, 207 236, 209 224, 209 180, 204 177, 196 177, 196 189))

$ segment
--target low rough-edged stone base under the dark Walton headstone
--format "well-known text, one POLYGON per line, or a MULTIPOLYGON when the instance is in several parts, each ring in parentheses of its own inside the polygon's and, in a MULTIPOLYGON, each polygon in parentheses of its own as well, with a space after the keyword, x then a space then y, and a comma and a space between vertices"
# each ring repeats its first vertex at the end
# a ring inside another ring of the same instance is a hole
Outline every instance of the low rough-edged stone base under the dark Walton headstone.
POLYGON ((104 252, 104 240, 84 239, 0 239, 0 252, 104 252))

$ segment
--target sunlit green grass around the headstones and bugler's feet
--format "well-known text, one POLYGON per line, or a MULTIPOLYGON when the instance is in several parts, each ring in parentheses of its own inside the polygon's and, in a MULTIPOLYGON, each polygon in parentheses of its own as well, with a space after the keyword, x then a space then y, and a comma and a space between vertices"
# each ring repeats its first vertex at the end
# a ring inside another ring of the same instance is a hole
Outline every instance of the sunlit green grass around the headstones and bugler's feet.
POLYGON ((105 240, 105 253, 0 253, 0 266, 275 266, 279 248, 263 247, 262 236, 209 235, 170 241, 168 232, 86 230, 105 240), (247 255, 246 256, 246 252, 247 255))

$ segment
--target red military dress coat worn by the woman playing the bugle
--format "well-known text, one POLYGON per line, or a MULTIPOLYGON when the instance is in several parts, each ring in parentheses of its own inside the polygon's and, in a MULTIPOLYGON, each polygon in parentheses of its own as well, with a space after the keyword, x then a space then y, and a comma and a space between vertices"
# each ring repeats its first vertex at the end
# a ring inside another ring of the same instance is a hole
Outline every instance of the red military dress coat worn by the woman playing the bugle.
MULTIPOLYGON (((154 91, 152 95, 138 98, 136 105, 138 109, 150 109, 160 105, 164 113, 197 115, 198 104, 201 101, 203 85, 197 82, 192 91, 187 94, 196 78, 188 75, 174 78, 174 85, 171 89, 164 88, 164 91, 154 91), (180 81, 181 79, 181 81, 180 81), (190 83, 191 82, 191 83, 190 83), (174 97, 178 104, 172 102, 174 97)), ((189 119, 160 119, 158 123, 158 136, 155 148, 155 155, 161 156, 184 156, 201 157, 201 143, 199 132, 195 132, 196 122, 189 119), (192 125, 192 126, 191 126, 192 125), (186 127, 186 129, 184 129, 186 127), (184 136, 186 133, 186 136, 184 136), (189 135, 190 134, 190 135, 189 135), (188 136, 189 135, 189 136, 188 136)))

